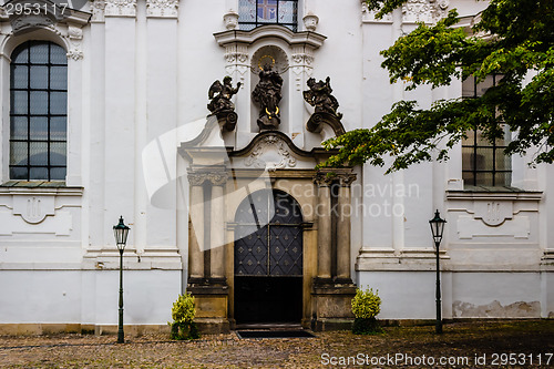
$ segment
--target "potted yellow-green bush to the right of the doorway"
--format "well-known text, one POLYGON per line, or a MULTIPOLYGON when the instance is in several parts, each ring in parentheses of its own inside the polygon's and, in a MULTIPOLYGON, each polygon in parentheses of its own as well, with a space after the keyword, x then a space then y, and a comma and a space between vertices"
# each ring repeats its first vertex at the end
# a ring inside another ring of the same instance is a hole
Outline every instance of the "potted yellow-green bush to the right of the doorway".
POLYGON ((352 332, 355 335, 375 335, 382 332, 376 316, 381 311, 381 298, 378 290, 362 290, 358 288, 352 298, 352 312, 355 316, 352 332))

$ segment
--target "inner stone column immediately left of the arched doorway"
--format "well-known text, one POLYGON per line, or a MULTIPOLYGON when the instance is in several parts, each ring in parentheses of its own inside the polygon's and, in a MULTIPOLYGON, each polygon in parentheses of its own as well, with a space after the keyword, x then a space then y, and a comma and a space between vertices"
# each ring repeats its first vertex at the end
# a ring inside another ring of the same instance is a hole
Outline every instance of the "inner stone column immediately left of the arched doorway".
POLYGON ((208 180, 212 182, 211 202, 211 278, 225 279, 225 198, 224 186, 227 183, 228 174, 209 173, 208 180))

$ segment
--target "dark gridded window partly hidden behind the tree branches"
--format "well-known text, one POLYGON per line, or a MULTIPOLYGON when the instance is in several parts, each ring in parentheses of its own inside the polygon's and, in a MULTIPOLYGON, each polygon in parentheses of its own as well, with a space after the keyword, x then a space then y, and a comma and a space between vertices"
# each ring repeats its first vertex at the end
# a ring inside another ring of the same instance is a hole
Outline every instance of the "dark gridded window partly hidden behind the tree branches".
MULTIPOLYGON (((472 99, 482 96, 485 91, 501 79, 489 75, 484 81, 469 78, 462 84, 462 96, 472 99)), ((468 132, 462 140, 462 178, 470 186, 510 186, 512 182, 512 160, 504 154, 510 142, 510 130, 504 125, 504 136, 490 142, 480 130, 468 132)))

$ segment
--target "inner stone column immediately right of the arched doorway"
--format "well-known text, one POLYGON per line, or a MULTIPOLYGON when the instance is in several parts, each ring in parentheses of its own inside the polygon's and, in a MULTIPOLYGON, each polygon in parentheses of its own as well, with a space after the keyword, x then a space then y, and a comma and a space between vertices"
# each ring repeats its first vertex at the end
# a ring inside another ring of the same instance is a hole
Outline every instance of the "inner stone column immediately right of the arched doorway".
POLYGON ((319 172, 314 178, 318 187, 317 215, 317 276, 331 278, 331 189, 332 178, 319 172))

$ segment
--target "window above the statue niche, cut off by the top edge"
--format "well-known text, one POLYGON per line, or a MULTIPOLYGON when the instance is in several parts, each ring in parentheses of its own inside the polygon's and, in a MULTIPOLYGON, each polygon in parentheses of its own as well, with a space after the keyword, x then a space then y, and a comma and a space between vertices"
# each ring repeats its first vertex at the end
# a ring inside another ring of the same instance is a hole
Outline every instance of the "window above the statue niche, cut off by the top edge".
POLYGON ((264 24, 298 30, 298 0, 238 0, 238 24, 249 31, 264 24))

